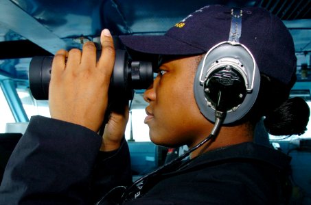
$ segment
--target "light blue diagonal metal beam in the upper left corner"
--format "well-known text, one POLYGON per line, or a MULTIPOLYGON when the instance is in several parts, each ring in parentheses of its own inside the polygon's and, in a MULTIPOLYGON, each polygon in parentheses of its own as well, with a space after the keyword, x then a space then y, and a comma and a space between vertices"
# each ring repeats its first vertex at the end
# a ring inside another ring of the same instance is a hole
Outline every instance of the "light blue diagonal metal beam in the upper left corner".
POLYGON ((10 0, 0 0, 1 24, 52 54, 55 54, 60 48, 67 49, 64 40, 10 0))

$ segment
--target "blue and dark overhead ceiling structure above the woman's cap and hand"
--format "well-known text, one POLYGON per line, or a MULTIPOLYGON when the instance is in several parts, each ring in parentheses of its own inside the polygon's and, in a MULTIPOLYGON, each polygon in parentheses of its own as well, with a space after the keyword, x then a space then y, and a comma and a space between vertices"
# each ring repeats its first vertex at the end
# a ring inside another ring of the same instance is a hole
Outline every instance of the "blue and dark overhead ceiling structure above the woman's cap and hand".
POLYGON ((14 74, 9 69, 12 67, 16 72, 14 60, 8 65, 1 59, 79 48, 100 36, 103 28, 113 35, 162 34, 187 14, 209 4, 266 8, 284 20, 297 52, 311 51, 310 0, 0 0, 0 70, 14 74))

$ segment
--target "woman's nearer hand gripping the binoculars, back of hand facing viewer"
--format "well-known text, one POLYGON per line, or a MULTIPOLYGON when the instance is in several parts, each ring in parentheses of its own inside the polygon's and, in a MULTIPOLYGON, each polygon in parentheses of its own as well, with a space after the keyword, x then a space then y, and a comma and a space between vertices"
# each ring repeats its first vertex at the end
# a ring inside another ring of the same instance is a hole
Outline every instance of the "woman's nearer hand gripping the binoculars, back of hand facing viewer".
POLYGON ((49 84, 51 118, 80 124, 95 132, 100 128, 115 63, 113 38, 108 29, 102 31, 100 41, 99 61, 93 42, 86 42, 82 52, 71 49, 56 53, 49 84))

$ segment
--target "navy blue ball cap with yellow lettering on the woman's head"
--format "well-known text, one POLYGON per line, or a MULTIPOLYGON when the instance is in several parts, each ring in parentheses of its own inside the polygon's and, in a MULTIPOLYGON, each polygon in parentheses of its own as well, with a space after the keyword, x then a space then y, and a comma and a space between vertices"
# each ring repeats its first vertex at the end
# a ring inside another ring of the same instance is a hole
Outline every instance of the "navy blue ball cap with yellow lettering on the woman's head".
MULTIPOLYGON (((286 85, 296 81, 297 58, 284 23, 263 8, 242 9, 240 43, 255 57, 260 72, 286 85)), ((231 8, 207 5, 176 23, 163 36, 120 36, 134 51, 159 55, 200 55, 229 40, 231 8)))

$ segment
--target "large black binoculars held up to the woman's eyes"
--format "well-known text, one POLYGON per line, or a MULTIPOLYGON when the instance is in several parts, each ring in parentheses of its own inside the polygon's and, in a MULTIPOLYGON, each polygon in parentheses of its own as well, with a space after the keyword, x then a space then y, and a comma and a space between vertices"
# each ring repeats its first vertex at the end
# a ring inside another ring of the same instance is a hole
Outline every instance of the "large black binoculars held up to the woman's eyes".
MULTIPOLYGON (((97 51, 97 59, 100 52, 97 51)), ((30 91, 36 100, 47 100, 53 56, 36 56, 30 61, 30 91)), ((132 61, 125 50, 115 51, 115 66, 108 94, 111 98, 132 100, 135 90, 148 88, 153 81, 150 61, 132 61)))

